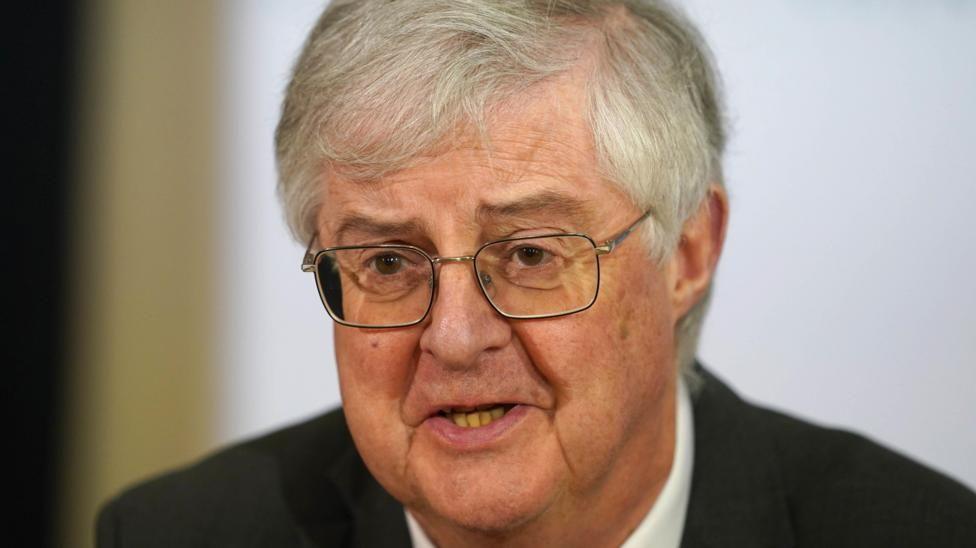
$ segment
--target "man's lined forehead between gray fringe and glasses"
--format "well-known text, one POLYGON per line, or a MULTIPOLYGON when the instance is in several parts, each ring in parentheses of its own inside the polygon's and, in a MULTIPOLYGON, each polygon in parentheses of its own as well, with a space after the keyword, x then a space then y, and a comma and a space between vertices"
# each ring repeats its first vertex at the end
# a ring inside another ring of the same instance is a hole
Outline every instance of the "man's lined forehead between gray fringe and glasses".
MULTIPOLYGON (((436 219, 471 224, 503 217, 561 216, 584 229, 607 196, 585 118, 583 88, 572 77, 536 86, 491 113, 487 134, 468 131, 408 168, 375 181, 327 169, 320 232, 335 235, 350 219, 436 219)), ((613 200, 619 201, 619 200, 613 200)))

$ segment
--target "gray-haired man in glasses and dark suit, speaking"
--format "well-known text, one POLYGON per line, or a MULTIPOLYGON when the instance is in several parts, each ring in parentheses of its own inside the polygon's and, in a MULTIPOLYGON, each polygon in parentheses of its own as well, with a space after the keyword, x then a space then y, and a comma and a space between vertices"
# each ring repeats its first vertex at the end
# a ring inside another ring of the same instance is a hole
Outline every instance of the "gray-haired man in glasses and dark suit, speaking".
POLYGON ((976 497, 695 364, 716 78, 647 1, 334 3, 277 133, 343 409, 122 495, 100 544, 976 543, 976 497))

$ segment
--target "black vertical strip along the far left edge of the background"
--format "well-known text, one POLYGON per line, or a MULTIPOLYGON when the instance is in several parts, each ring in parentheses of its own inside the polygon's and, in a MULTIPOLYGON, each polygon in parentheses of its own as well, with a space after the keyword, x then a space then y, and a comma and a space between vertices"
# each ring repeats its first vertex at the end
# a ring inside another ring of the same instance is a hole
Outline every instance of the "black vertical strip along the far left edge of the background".
POLYGON ((2 544, 54 544, 59 420, 66 359, 67 276, 74 193, 77 82, 75 2, 6 12, 0 203, 5 210, 2 293, 7 321, 2 399, 8 510, 2 544), (8 460, 10 459, 10 460, 8 460))

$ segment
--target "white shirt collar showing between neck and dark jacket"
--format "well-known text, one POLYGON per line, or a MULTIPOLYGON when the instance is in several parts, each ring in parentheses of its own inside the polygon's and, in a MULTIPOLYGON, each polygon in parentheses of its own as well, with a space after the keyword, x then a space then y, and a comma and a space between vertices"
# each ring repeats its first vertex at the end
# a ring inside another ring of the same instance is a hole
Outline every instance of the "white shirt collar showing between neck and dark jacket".
MULTIPOLYGON (((691 494, 691 469, 695 460, 695 421, 691 398, 683 381, 678 382, 678 402, 675 417, 674 460, 664 488, 654 506, 644 516, 621 548, 678 548, 685 528, 688 497, 691 494)), ((427 533, 406 509, 407 529, 414 548, 434 548, 427 533)))

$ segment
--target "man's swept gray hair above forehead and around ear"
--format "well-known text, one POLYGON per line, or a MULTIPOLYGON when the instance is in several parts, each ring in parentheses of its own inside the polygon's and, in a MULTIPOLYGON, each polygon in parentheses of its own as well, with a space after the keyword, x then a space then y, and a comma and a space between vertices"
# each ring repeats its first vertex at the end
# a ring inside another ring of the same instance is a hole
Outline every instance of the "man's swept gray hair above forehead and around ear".
MULTIPOLYGON (((315 232, 326 166, 375 179, 465 129, 487 135, 491 107, 584 55, 601 171, 653 210, 644 239, 662 263, 709 185, 722 184, 725 130, 704 41, 653 0, 334 1, 305 42, 276 133, 293 234, 315 232)), ((708 300, 675 333, 686 375, 708 300)))

